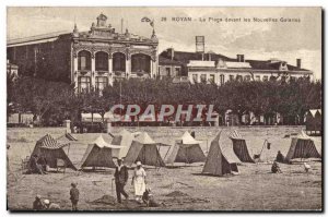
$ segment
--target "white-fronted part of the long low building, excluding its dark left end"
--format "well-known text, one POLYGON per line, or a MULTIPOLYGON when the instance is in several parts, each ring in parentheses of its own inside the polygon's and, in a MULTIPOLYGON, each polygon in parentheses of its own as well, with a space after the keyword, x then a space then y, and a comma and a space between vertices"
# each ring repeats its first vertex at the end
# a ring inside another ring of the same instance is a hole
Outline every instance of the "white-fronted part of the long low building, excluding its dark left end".
POLYGON ((191 83, 214 82, 223 85, 227 81, 290 81, 300 77, 313 81, 314 73, 301 68, 301 59, 296 67, 281 60, 245 60, 237 55, 235 60, 219 59, 218 61, 191 60, 188 67, 188 77, 191 83))

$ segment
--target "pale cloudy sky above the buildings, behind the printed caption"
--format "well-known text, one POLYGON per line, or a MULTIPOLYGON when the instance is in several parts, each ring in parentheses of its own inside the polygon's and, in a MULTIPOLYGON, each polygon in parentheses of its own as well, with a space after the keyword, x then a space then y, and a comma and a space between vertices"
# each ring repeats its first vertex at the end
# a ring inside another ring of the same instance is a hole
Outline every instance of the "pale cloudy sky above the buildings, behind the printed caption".
POLYGON ((116 32, 121 31, 122 19, 124 31, 145 37, 152 27, 141 19, 154 20, 160 52, 171 47, 195 51, 195 36, 204 36, 206 51, 231 58, 274 58, 293 65, 302 59, 302 68, 321 79, 320 8, 8 8, 7 37, 72 32, 74 23, 79 31, 89 31, 99 13, 107 15, 107 24, 116 32))

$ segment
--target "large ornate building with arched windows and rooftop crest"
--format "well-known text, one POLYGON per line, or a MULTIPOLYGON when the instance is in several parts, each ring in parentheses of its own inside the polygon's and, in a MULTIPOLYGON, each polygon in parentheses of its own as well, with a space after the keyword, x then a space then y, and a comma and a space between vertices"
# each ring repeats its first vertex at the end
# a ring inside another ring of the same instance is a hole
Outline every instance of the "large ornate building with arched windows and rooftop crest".
POLYGON ((74 83, 79 92, 98 89, 121 77, 154 77, 157 74, 155 32, 150 38, 117 33, 101 14, 90 31, 55 33, 9 40, 8 59, 19 73, 74 83))

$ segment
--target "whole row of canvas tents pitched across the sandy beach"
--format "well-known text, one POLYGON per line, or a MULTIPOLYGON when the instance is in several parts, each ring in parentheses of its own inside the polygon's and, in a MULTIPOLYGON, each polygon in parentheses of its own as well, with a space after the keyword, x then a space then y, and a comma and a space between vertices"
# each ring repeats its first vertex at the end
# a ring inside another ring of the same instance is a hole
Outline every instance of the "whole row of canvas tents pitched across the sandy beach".
MULTIPOLYGON (((61 159, 66 162, 67 168, 73 170, 115 168, 115 158, 124 158, 125 165, 128 167, 136 161, 159 168, 175 162, 204 162, 202 173, 223 176, 238 172, 237 165, 242 162, 265 161, 270 145, 268 142, 265 143, 261 153, 255 159, 249 154, 245 138, 237 131, 229 134, 232 145, 220 142, 222 131, 219 132, 211 142, 208 156, 201 149, 201 142, 197 141, 189 132, 185 132, 175 141, 174 145, 156 142, 147 132, 131 133, 127 130, 110 136, 99 134, 91 142, 79 140, 78 136, 78 134, 66 133, 56 140, 47 134, 36 142, 32 155, 44 156, 50 168, 56 168, 57 159, 61 159), (112 137, 110 142, 106 141, 105 136, 106 140, 107 136, 112 137), (160 154, 162 146, 168 147, 164 159, 160 154), (74 157, 77 159, 72 160, 74 157)), ((315 140, 302 132, 292 138, 285 160, 289 162, 293 158, 320 158, 320 156, 315 140)))

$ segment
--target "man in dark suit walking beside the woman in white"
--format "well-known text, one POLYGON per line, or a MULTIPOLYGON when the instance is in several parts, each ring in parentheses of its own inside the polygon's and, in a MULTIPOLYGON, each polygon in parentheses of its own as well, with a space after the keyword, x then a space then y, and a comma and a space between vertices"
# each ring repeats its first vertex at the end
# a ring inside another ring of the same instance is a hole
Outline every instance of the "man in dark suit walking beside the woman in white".
POLYGON ((126 200, 129 198, 129 195, 125 191, 125 185, 127 184, 127 181, 129 179, 129 172, 128 168, 122 165, 122 160, 118 159, 117 160, 118 166, 115 169, 115 185, 116 185, 116 195, 117 195, 117 202, 121 203, 121 197, 120 194, 122 194, 126 200))

